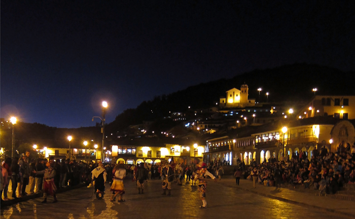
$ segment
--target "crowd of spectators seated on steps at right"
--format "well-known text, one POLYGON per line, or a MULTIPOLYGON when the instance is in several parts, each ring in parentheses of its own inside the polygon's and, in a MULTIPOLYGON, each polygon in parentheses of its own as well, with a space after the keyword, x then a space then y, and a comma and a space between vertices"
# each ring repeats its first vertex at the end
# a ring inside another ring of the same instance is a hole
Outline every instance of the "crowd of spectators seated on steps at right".
POLYGON ((325 147, 314 149, 310 160, 305 152, 296 152, 291 159, 270 158, 261 164, 253 161, 247 168, 242 163, 237 161, 235 171, 243 178, 253 179, 254 188, 256 183, 276 189, 281 183, 289 183, 294 188, 301 185, 325 195, 335 194, 344 184, 355 184, 355 147, 348 143, 341 143, 334 153, 325 147))

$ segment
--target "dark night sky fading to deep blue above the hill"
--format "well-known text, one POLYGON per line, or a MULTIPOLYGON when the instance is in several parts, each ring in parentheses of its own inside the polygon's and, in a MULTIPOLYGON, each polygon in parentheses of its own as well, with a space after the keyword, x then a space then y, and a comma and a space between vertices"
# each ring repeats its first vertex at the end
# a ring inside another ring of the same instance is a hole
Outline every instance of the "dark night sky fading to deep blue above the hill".
POLYGON ((1 117, 93 126, 102 100, 109 123, 257 68, 355 69, 354 1, 266 2, 1 1, 1 117))

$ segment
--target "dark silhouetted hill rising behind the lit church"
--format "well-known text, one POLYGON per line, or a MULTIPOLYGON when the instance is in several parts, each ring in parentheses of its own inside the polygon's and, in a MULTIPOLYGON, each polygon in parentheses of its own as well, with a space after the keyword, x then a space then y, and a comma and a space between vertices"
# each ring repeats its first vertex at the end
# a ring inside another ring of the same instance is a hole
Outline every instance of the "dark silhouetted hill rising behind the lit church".
POLYGON ((144 101, 137 108, 126 109, 118 115, 115 121, 108 125, 108 129, 122 130, 144 120, 167 117, 169 112, 185 112, 188 106, 193 109, 214 106, 219 102, 220 96, 225 96, 227 90, 234 87, 240 89, 244 82, 249 87, 250 98, 258 100, 257 89, 262 88, 261 101, 266 101, 266 92, 269 92, 269 102, 280 102, 308 100, 314 95, 312 88, 318 89, 318 95, 355 95, 354 79, 355 71, 343 72, 331 67, 305 63, 257 69, 232 79, 202 83, 144 101))

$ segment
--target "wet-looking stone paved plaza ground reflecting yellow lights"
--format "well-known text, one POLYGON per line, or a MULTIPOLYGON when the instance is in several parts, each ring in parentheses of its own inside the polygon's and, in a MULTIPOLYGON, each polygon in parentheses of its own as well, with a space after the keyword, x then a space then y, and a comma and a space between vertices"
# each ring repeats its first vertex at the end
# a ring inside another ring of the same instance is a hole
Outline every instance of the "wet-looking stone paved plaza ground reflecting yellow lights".
MULTIPOLYGON (((244 186, 250 182, 241 180, 244 186)), ((351 218, 338 213, 290 204, 237 189, 233 178, 208 183, 208 208, 200 209, 197 187, 172 185, 172 196, 162 196, 160 180, 150 180, 145 194, 137 194, 135 184, 125 180, 124 203, 109 201, 109 185, 104 200, 81 188, 58 194, 58 203, 42 204, 37 198, 2 207, 1 218, 351 218)), ((282 191, 283 192, 283 191, 282 191)), ((282 193, 281 192, 281 193, 282 193)), ((321 200, 324 197, 318 197, 321 200)), ((334 201, 334 199, 332 199, 334 201)), ((353 202, 348 202, 353 206, 353 202)), ((348 206, 344 206, 348 207, 348 206)))

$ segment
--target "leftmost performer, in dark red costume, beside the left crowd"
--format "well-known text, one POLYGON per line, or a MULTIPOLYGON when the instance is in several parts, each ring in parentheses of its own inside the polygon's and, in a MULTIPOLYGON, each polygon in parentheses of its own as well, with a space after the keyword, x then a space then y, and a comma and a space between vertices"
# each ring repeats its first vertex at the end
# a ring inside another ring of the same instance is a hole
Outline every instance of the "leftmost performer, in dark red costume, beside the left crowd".
POLYGON ((43 184, 43 188, 44 188, 44 193, 43 193, 43 198, 44 200, 42 201, 42 203, 47 203, 47 195, 52 195, 54 198, 53 203, 56 203, 57 200, 57 196, 55 194, 55 191, 57 190, 57 188, 54 185, 54 177, 55 177, 55 169, 51 166, 51 164, 49 162, 46 163, 46 166, 48 167, 45 170, 42 171, 35 171, 33 170, 33 173, 36 174, 44 174, 44 184, 43 184))

